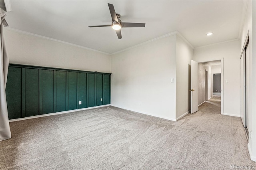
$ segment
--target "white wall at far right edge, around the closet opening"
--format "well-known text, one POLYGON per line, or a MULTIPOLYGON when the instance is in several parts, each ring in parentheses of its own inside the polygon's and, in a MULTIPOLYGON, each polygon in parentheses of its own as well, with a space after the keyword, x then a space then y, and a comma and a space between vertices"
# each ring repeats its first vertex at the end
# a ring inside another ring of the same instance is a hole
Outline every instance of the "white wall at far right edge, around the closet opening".
MULTIPOLYGON (((246 36, 249 33, 249 43, 248 43, 248 53, 246 57, 249 57, 249 85, 248 87, 248 100, 246 101, 248 107, 247 113, 247 128, 249 131, 249 143, 248 150, 251 159, 256 161, 256 2, 248 1, 248 6, 246 10, 246 16, 244 21, 244 26, 242 34, 240 37, 240 53, 242 52, 246 36)), ((246 66, 247 67, 247 66, 246 66)))

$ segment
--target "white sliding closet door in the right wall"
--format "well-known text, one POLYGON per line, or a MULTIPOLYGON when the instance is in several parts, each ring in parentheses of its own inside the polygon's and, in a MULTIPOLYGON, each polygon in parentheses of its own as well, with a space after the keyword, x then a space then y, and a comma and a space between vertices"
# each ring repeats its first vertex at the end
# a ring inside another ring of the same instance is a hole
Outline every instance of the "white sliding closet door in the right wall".
POLYGON ((246 127, 246 77, 245 77, 245 50, 240 59, 240 113, 244 127, 246 127))

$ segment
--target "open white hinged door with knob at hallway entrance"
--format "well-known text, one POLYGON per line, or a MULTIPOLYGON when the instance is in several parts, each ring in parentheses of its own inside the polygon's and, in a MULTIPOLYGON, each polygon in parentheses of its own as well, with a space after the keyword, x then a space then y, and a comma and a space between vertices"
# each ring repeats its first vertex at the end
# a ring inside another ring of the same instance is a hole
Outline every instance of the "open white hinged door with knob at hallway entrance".
POLYGON ((198 62, 191 60, 191 85, 190 85, 190 93, 191 93, 191 108, 190 112, 195 113, 198 111, 198 62))

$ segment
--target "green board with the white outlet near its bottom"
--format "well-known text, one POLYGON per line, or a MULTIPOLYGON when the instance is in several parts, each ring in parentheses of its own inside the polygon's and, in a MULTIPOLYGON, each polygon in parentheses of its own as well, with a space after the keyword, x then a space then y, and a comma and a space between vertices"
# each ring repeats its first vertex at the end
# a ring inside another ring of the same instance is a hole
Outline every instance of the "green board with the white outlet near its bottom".
POLYGON ((81 101, 81 104, 78 105, 79 109, 86 107, 86 73, 78 73, 79 77, 79 97, 78 103, 81 101))

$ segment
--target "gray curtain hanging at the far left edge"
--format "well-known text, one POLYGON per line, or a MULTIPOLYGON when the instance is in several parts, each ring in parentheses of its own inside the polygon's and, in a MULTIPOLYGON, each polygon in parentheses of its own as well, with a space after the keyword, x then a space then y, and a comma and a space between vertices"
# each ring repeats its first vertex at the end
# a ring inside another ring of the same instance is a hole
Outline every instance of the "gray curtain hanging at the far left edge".
POLYGON ((5 45, 4 45, 4 26, 8 26, 6 20, 4 19, 6 12, 0 8, 0 36, 1 36, 1 48, 0 48, 0 141, 11 138, 11 130, 8 119, 7 103, 5 87, 7 82, 7 73, 9 58, 6 55, 5 45))

